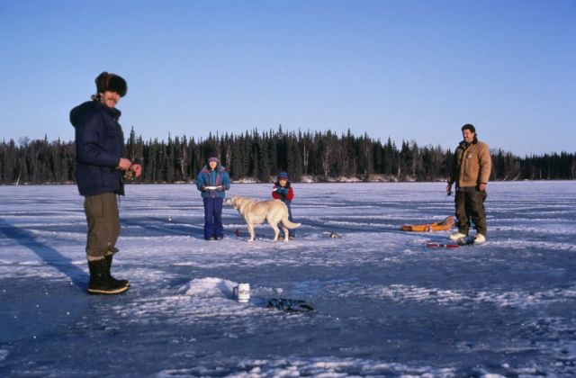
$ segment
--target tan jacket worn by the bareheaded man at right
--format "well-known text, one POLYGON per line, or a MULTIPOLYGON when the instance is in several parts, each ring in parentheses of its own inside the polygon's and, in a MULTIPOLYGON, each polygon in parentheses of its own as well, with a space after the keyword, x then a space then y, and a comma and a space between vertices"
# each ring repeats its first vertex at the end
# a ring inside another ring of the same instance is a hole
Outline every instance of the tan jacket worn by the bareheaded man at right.
POLYGON ((456 187, 474 187, 488 183, 491 172, 490 148, 486 143, 476 140, 467 148, 464 140, 455 150, 455 161, 450 184, 456 187))

